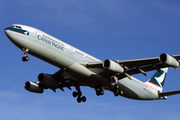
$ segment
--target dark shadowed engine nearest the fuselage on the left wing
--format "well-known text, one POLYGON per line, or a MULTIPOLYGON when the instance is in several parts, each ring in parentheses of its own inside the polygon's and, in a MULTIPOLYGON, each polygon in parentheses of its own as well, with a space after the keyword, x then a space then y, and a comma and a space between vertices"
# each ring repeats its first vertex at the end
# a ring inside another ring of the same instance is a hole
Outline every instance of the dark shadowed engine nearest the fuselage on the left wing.
POLYGON ((39 74, 38 80, 40 83, 42 83, 50 88, 57 87, 57 85, 59 83, 58 80, 54 79, 51 75, 44 74, 44 73, 39 74))

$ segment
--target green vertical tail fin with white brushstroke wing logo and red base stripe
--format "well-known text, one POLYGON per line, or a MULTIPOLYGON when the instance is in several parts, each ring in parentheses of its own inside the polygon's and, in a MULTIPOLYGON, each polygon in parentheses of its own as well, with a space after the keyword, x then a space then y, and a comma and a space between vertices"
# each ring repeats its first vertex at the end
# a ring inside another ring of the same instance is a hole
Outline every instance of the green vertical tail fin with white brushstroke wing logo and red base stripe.
POLYGON ((162 68, 160 71, 161 72, 156 71, 146 84, 162 92, 168 68, 162 68))

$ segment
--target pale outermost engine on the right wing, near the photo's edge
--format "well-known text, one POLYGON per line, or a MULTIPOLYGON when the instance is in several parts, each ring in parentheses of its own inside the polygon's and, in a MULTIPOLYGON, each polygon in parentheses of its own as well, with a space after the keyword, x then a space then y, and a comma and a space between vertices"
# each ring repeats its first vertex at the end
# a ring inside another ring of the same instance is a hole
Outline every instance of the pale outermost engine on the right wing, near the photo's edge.
POLYGON ((159 61, 174 68, 179 67, 179 62, 174 57, 165 53, 159 56, 159 61))

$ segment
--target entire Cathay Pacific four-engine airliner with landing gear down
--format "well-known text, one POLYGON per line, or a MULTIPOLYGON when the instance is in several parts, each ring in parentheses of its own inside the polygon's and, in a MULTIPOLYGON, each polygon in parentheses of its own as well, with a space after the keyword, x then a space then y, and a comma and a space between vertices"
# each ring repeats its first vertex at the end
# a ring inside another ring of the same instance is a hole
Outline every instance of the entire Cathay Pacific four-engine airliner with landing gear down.
POLYGON ((64 87, 71 90, 74 86, 73 96, 78 103, 86 101, 80 86, 95 89, 98 96, 109 90, 115 96, 136 100, 167 99, 168 95, 180 93, 180 90, 162 92, 167 69, 179 66, 180 55, 163 53, 155 58, 101 61, 33 27, 14 24, 5 33, 22 50, 24 62, 29 60, 27 54, 31 54, 60 68, 54 74, 40 73, 39 82, 27 81, 24 87, 30 92, 43 93, 44 89, 56 92, 58 88, 64 91, 64 87), (157 72, 147 82, 132 77, 152 70, 157 72))

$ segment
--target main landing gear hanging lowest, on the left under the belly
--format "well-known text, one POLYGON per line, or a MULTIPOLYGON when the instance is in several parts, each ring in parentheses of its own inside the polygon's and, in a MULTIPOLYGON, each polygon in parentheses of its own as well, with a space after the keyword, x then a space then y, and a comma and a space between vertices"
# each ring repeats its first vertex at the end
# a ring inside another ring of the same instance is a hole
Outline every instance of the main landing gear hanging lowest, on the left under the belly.
POLYGON ((86 102, 86 97, 82 96, 82 92, 80 90, 80 87, 76 87, 76 91, 73 92, 73 97, 77 97, 77 102, 81 103, 81 102, 86 102), (82 96, 82 97, 81 97, 82 96))

